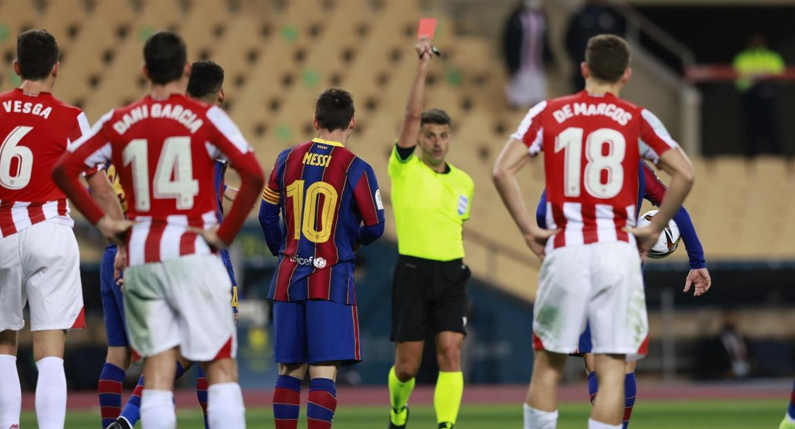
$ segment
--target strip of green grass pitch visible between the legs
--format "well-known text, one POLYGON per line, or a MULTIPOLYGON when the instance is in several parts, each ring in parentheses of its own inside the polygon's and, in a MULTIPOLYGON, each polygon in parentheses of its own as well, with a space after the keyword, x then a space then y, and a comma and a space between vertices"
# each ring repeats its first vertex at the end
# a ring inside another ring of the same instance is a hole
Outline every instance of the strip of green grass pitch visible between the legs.
MULTIPOLYGON (((778 427, 784 416, 786 398, 782 400, 732 400, 688 402, 638 401, 632 415, 631 429, 765 429, 778 427)), ((302 410, 303 411, 303 410, 302 410)), ((558 429, 582 429, 588 421, 588 404, 563 404, 560 407, 558 429)), ((250 408, 247 412, 249 429, 273 427, 270 410, 250 408)), ((355 407, 341 404, 334 419, 339 429, 386 428, 386 408, 355 407)), ((32 428, 36 417, 25 412, 21 427, 32 428)), ((199 410, 179 412, 180 429, 202 429, 199 410)), ((99 427, 99 412, 68 412, 66 429, 99 427)), ((140 423, 139 426, 140 427, 140 423)), ((303 415, 299 428, 305 428, 303 415)), ((436 427, 433 409, 429 406, 412 408, 409 427, 436 427)), ((522 405, 464 405, 456 429, 516 429, 522 427, 522 405)))

